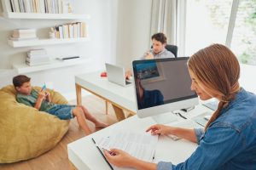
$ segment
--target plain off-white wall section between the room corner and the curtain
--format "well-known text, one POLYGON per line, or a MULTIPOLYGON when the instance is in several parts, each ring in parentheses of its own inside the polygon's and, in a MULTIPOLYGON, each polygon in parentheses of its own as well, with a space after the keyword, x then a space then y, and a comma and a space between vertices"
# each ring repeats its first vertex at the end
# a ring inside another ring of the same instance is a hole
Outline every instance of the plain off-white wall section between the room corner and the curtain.
POLYGON ((143 56, 150 41, 152 0, 119 0, 116 64, 131 69, 132 59, 143 56))

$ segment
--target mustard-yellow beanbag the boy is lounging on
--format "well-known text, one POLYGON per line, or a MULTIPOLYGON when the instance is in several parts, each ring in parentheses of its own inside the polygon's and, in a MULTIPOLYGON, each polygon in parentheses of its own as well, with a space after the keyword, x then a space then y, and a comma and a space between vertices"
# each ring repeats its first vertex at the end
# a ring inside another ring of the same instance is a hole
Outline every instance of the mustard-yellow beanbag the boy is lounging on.
MULTIPOLYGON (((61 94, 48 91, 54 103, 67 104, 61 94)), ((13 85, 0 89, 0 163, 42 155, 67 133, 68 123, 57 116, 18 103, 13 85)))

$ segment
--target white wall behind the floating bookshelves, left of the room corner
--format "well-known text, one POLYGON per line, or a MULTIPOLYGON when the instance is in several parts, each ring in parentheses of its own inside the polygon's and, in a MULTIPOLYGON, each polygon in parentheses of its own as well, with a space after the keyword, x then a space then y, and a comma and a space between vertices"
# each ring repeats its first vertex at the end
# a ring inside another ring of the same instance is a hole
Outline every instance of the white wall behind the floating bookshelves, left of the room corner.
MULTIPOLYGON (((104 63, 113 62, 117 25, 117 0, 76 0, 73 1, 74 13, 90 14, 90 42, 51 45, 44 47, 49 54, 80 55, 90 57, 89 64, 59 68, 48 71, 38 71, 26 74, 32 77, 32 85, 42 86, 44 82, 53 82, 55 90, 64 94, 68 99, 75 97, 74 75, 103 69, 104 63), (113 38, 114 37, 114 38, 113 38)), ((1 13, 3 9, 1 8, 1 13)), ((49 27, 72 22, 69 20, 9 20, 0 18, 0 71, 11 69, 12 62, 23 62, 26 51, 31 48, 12 48, 7 44, 8 37, 17 28, 36 28, 38 37, 47 37, 49 27)), ((0 88, 11 83, 15 73, 12 70, 0 72, 0 88)))

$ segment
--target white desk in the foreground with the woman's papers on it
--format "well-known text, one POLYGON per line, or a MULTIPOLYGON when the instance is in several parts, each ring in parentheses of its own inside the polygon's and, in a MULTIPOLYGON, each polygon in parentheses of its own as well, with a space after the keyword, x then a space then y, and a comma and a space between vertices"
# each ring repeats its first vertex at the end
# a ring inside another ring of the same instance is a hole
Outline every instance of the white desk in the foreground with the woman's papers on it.
MULTIPOLYGON (((198 115, 205 111, 209 111, 206 107, 199 105, 195 110, 188 113, 189 116, 198 115)), ((179 122, 185 120, 178 117, 179 122)), ((196 123, 185 121, 183 127, 198 127, 196 123)), ((172 122, 175 126, 178 122, 172 122)), ((108 164, 102 158, 102 155, 96 149, 95 144, 91 138, 99 139, 102 136, 108 136, 118 130, 130 130, 133 132, 144 132, 149 126, 155 124, 151 117, 140 119, 137 116, 131 116, 124 121, 113 124, 110 127, 104 128, 101 131, 92 133, 82 139, 74 141, 67 145, 68 158, 75 167, 79 170, 93 169, 93 170, 108 170, 108 164)), ((170 124, 171 125, 171 124, 170 124)), ((197 144, 191 143, 185 139, 174 141, 166 136, 160 136, 157 144, 154 162, 158 161, 172 161, 177 164, 185 161, 195 150, 197 144)))

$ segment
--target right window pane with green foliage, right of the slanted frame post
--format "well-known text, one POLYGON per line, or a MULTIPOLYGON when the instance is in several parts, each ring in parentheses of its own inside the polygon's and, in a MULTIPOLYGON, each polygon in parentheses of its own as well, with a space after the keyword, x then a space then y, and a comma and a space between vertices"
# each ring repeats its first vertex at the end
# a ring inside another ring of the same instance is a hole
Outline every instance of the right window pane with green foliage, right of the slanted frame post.
POLYGON ((256 65, 255 0, 240 0, 230 48, 242 64, 256 65))

